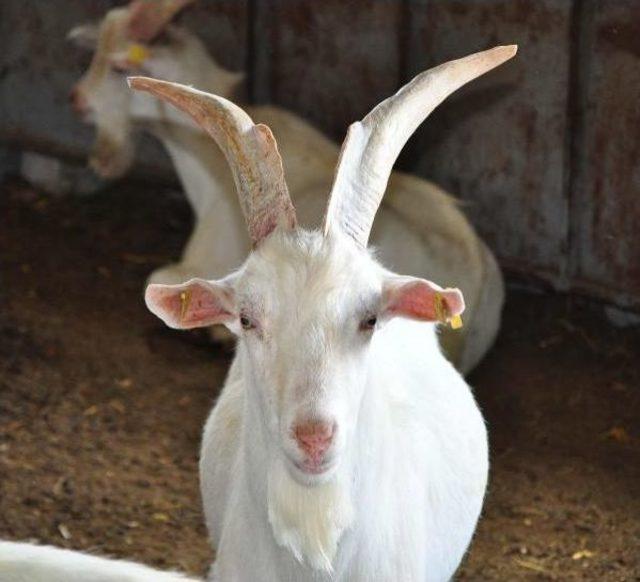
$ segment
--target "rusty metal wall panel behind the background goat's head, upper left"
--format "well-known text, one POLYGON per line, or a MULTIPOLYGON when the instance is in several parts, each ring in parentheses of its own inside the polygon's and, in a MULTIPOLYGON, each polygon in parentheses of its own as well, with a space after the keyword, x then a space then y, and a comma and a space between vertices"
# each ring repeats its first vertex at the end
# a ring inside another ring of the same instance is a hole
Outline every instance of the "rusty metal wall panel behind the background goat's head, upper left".
MULTIPOLYGON (((75 118, 67 95, 89 57, 65 36, 72 27, 98 21, 110 8, 123 4, 115 0, 2 0, 0 140, 71 157, 86 153, 93 131, 75 118)), ((208 0, 190 10, 193 13, 184 15, 185 23, 201 35, 212 55, 229 68, 242 68, 247 0, 208 0)), ((145 143, 139 159, 168 166, 161 148, 150 143, 145 143)))

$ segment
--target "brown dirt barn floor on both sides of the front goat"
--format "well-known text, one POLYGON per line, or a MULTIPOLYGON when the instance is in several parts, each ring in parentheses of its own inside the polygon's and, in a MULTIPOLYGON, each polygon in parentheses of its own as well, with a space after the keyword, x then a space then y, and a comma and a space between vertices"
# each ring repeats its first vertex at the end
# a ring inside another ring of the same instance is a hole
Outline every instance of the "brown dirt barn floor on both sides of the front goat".
MULTIPOLYGON (((141 301, 186 203, 131 184, 56 200, 13 180, 0 216, 0 538, 203 573, 197 452, 228 356, 141 301)), ((640 331, 510 293, 471 378, 493 467, 460 579, 640 580, 639 362, 640 331)))

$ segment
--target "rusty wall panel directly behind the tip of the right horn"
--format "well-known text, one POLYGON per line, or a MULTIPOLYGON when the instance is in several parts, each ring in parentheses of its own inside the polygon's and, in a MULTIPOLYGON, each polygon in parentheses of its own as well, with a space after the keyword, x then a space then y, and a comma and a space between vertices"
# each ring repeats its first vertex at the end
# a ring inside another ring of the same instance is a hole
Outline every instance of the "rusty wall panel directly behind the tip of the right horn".
POLYGON ((564 284, 565 138, 572 4, 411 0, 409 70, 497 44, 514 61, 463 88, 412 144, 410 168, 462 198, 502 263, 564 284))

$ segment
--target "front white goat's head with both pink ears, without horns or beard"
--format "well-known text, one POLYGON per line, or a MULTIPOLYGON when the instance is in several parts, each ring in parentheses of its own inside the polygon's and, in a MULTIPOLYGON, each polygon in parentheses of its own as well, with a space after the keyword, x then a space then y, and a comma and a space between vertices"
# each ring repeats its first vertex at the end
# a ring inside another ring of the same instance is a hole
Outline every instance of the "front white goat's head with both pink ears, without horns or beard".
POLYGON ((250 402, 272 460, 301 485, 326 482, 350 451, 367 384, 369 347, 396 317, 461 313, 459 291, 385 271, 339 233, 276 231, 222 281, 151 285, 165 323, 224 323, 239 337, 250 402))

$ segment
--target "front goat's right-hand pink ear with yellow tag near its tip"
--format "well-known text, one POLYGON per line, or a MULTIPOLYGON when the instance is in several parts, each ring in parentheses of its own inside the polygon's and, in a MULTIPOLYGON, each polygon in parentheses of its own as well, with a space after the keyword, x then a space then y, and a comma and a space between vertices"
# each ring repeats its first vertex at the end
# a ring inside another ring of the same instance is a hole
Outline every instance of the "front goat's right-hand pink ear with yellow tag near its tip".
POLYGON ((441 323, 459 321, 464 298, 459 289, 415 277, 391 277, 383 285, 383 309, 389 317, 441 323))

